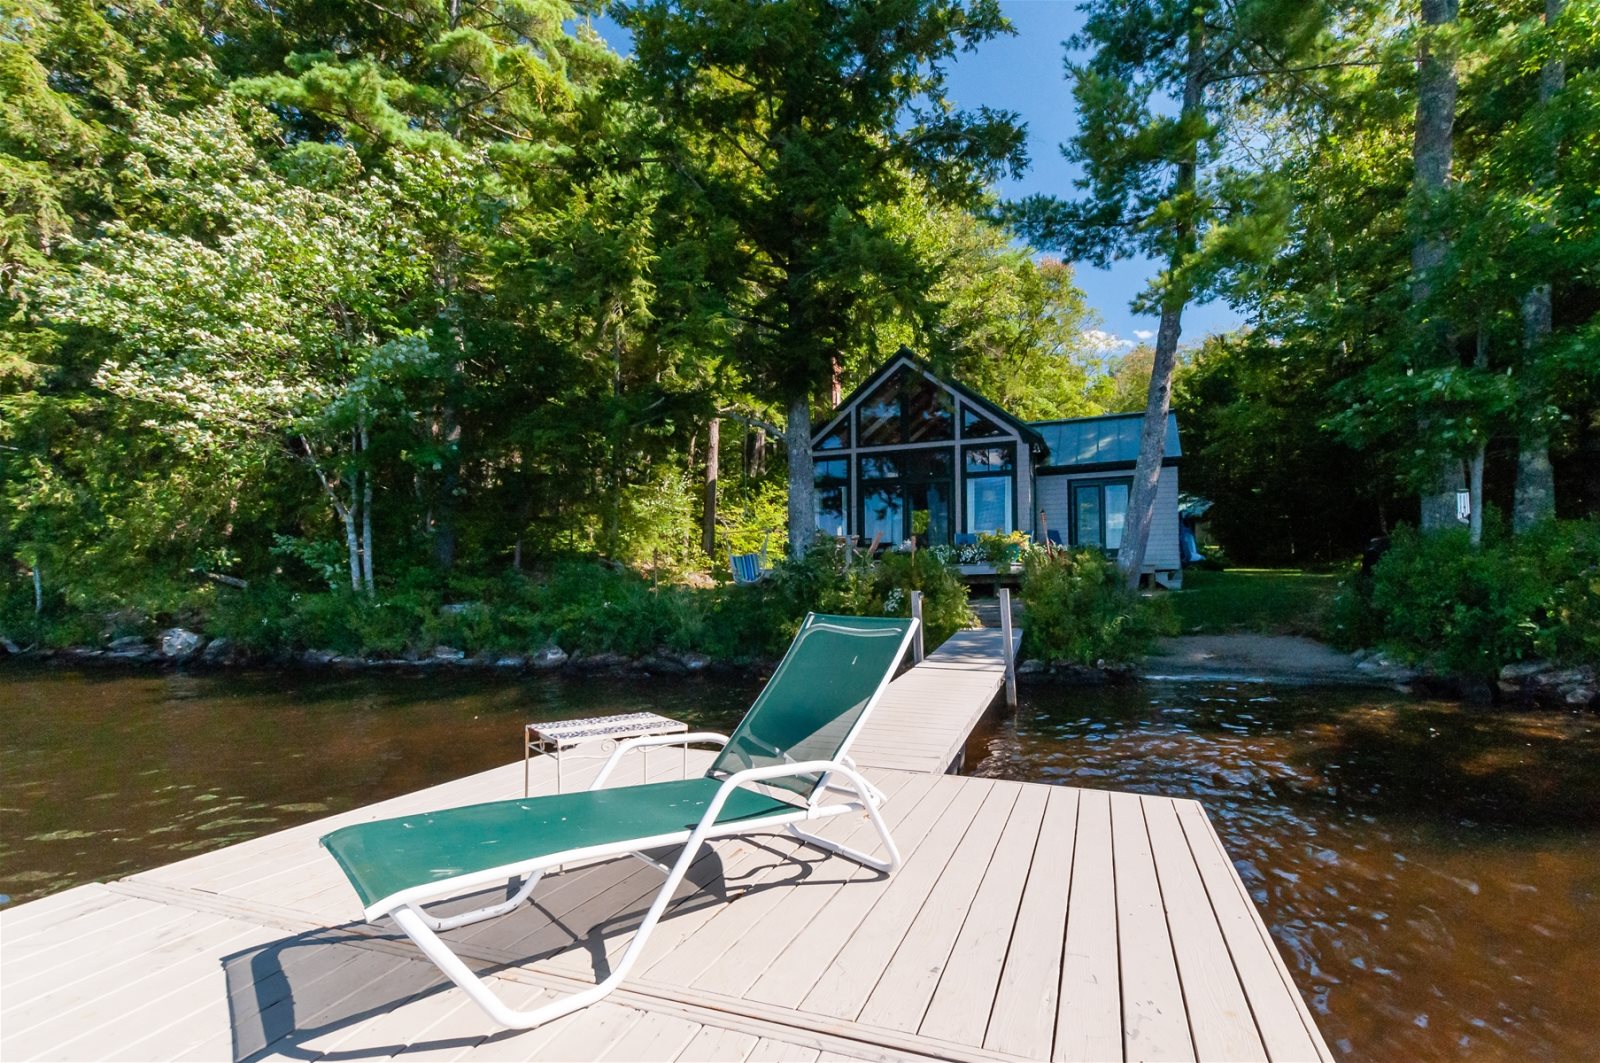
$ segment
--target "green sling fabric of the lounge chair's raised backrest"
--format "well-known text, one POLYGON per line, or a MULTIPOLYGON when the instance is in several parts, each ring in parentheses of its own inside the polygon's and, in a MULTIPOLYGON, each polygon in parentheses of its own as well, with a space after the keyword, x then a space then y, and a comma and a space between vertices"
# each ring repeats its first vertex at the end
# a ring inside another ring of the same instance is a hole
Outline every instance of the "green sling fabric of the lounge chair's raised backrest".
MULTIPOLYGON (((899 618, 806 616, 710 775, 837 757, 878 684, 899 663, 909 629, 910 621, 899 618)), ((810 796, 818 781, 800 775, 768 784, 810 796)))

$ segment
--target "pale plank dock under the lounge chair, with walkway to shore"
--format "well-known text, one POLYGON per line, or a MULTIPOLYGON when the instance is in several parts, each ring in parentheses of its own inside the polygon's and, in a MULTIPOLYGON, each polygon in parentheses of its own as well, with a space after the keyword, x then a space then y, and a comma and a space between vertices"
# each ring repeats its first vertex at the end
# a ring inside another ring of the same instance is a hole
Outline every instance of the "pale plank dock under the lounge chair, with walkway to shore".
MULTIPOLYGON (((782 834, 715 842, 602 1004, 498 1031, 405 938, 358 922, 317 845, 346 823, 520 796, 517 762, 0 913, 0 1058, 1331 1058, 1198 804, 875 760, 952 687, 922 684, 960 671, 962 645, 891 685, 917 677, 907 716, 882 717, 882 749, 859 751, 890 796, 898 874, 782 834)), ((941 741, 918 764, 941 764, 941 741)), ((533 786, 554 789, 546 759, 533 786)), ((856 816, 821 829, 869 831, 856 816)), ((571 866, 533 905, 450 937, 530 1007, 605 972, 658 882, 629 858, 571 866)))

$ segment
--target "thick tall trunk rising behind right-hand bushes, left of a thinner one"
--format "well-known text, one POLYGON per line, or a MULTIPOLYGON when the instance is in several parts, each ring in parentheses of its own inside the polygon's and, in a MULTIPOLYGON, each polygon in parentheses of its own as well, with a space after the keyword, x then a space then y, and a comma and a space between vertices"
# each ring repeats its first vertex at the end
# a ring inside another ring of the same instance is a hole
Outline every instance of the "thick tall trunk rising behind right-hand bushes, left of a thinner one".
MULTIPOLYGON (((1459 0, 1422 0, 1422 24, 1426 27, 1448 26, 1456 21, 1459 0)), ((1416 134, 1411 144, 1411 187, 1418 210, 1424 215, 1422 231, 1411 245, 1411 306, 1427 315, 1422 320, 1426 359, 1442 365, 1450 357, 1450 325, 1429 315, 1427 303, 1434 295, 1432 272, 1450 251, 1450 237, 1427 218, 1450 184, 1450 162, 1456 126, 1456 56, 1453 46, 1437 34, 1427 32, 1418 51, 1416 134)), ((1421 440, 1426 445, 1432 426, 1424 416, 1419 423, 1421 440)), ((1461 483, 1461 463, 1442 458, 1422 491, 1422 530, 1453 527, 1456 522, 1456 491, 1461 483)))

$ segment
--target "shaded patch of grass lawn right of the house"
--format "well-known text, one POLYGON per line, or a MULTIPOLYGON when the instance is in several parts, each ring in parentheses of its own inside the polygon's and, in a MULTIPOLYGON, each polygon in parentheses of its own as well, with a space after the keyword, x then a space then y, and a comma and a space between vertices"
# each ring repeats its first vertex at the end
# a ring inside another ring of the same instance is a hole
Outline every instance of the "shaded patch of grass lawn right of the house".
POLYGON ((1178 631, 1317 637, 1341 578, 1301 568, 1190 568, 1184 589, 1171 596, 1178 631))

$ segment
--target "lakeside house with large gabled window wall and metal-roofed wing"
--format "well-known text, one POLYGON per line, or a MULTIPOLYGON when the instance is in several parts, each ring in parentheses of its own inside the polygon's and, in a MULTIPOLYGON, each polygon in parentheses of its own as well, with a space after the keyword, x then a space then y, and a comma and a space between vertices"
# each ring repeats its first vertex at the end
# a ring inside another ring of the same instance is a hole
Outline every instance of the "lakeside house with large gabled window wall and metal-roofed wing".
MULTIPOLYGON (((901 347, 811 437, 824 535, 923 546, 1014 532, 1110 556, 1122 543, 1142 415, 1026 423, 901 347)), ((1144 572, 1179 575, 1178 421, 1166 421, 1144 572)))

